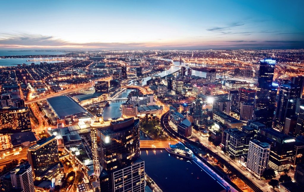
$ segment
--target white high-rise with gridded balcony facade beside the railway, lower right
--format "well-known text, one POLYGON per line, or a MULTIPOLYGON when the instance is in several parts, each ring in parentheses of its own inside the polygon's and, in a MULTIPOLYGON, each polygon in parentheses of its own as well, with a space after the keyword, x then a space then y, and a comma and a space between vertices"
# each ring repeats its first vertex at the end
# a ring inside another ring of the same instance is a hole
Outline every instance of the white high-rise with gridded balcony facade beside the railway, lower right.
POLYGON ((258 179, 267 169, 269 153, 270 145, 268 143, 262 143, 256 139, 249 142, 246 169, 258 179))

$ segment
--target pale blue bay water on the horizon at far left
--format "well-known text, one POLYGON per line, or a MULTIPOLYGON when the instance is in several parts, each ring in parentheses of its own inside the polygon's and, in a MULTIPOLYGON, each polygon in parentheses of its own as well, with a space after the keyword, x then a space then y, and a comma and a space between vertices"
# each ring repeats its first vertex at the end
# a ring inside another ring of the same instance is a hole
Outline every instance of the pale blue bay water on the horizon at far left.
MULTIPOLYGON (((9 51, 9 50, 0 50, 0 56, 11 56, 11 55, 64 55, 64 52, 57 51, 9 51)), ((40 62, 44 61, 26 61, 33 60, 35 58, 0 58, 0 66, 16 66, 12 64, 22 64, 25 63, 27 65, 31 63, 40 64, 40 62)), ((44 58, 43 58, 44 59, 44 58)), ((58 63, 62 61, 46 61, 47 63, 58 63)))

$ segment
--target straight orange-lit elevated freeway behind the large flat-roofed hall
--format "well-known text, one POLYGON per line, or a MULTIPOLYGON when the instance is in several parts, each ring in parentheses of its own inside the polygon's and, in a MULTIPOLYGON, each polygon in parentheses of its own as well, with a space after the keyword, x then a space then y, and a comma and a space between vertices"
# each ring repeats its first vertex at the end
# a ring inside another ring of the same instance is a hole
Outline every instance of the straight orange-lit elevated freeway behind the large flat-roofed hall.
MULTIPOLYGON (((107 78, 99 79, 98 81, 110 81, 111 79, 112 79, 112 77, 107 77, 107 78)), ((31 103, 40 102, 40 101, 46 100, 48 98, 52 98, 52 97, 56 97, 56 96, 60 96, 60 95, 65 95, 65 94, 70 94, 70 93, 77 92, 77 91, 80 91, 82 89, 87 89, 87 88, 90 88, 90 87, 92 87, 91 82, 86 83, 86 84, 82 84, 82 85, 75 85, 75 88, 73 88, 73 89, 67 89, 67 90, 64 90, 64 91, 60 91, 58 93, 53 93, 53 94, 49 94, 49 95, 46 95, 46 96, 43 96, 43 97, 40 97, 40 98, 36 98, 36 99, 33 99, 33 100, 25 101, 24 104, 31 104, 31 103)))

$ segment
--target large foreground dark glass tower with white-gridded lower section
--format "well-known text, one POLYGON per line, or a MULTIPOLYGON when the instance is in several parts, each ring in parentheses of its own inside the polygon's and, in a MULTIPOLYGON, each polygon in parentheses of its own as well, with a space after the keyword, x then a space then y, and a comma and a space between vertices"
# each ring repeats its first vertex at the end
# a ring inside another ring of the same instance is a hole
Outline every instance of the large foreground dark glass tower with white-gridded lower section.
POLYGON ((112 121, 97 128, 100 190, 144 191, 144 161, 140 159, 139 119, 112 121))

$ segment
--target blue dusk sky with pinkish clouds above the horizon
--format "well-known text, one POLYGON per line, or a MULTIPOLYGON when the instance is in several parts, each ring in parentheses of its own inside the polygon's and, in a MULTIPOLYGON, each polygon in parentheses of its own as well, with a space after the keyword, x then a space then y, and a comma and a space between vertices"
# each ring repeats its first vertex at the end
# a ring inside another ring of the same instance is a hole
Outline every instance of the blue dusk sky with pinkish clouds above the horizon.
POLYGON ((1 1, 0 48, 304 48, 302 0, 1 1))

